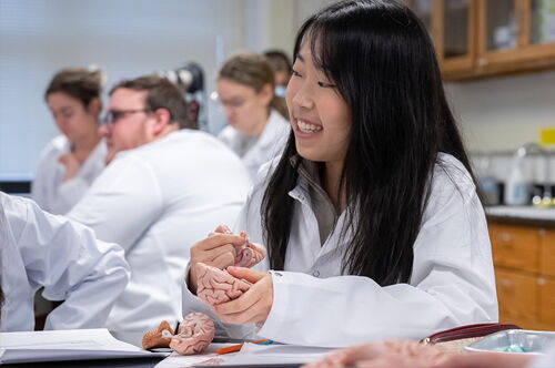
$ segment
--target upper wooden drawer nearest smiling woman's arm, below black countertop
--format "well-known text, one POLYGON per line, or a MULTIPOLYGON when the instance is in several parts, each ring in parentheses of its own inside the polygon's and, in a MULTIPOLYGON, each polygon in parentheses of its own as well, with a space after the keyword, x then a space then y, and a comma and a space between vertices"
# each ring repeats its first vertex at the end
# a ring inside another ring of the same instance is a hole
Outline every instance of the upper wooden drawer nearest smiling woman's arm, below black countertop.
POLYGON ((534 227, 490 224, 493 262, 496 266, 537 272, 539 232, 534 227))

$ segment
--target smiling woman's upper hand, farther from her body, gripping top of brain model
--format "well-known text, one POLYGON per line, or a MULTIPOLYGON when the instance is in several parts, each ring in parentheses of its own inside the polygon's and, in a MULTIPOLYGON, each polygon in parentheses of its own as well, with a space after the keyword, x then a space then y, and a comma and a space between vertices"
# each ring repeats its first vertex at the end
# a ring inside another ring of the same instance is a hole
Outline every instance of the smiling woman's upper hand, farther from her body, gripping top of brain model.
POLYGON ((225 269, 235 263, 236 246, 241 246, 245 239, 239 235, 233 235, 226 226, 218 226, 209 237, 195 243, 191 247, 191 259, 189 267, 188 287, 196 295, 196 264, 203 263, 209 266, 225 269))

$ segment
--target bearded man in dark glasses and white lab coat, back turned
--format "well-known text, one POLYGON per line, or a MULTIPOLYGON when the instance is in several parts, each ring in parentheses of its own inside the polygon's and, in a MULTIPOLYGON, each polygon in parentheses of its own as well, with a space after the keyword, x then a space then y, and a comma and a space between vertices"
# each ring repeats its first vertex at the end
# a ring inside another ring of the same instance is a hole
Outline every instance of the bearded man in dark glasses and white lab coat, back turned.
POLYGON ((123 81, 110 93, 101 127, 109 165, 68 216, 125 251, 131 282, 109 316, 111 330, 144 333, 182 318, 189 247, 214 224, 234 223, 246 198, 241 160, 194 127, 164 79, 123 81))

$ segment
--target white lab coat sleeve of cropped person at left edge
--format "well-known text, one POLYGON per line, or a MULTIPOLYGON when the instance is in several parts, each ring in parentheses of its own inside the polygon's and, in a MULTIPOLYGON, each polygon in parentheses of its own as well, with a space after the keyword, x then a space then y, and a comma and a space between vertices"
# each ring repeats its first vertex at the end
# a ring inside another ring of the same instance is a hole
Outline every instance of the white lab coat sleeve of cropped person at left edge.
POLYGON ((34 293, 65 300, 46 329, 104 327, 129 280, 123 249, 98 241, 81 224, 0 192, 0 268, 6 304, 0 331, 33 330, 34 293))

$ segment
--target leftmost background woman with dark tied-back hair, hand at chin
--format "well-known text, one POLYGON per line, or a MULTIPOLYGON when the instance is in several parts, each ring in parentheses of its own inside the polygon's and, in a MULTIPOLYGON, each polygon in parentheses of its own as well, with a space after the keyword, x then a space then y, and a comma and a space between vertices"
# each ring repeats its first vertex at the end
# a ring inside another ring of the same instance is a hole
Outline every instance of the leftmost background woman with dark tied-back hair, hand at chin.
POLYGON ((42 151, 31 195, 46 211, 65 214, 104 167, 99 134, 101 71, 64 69, 50 82, 44 100, 61 135, 42 151))

